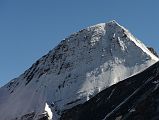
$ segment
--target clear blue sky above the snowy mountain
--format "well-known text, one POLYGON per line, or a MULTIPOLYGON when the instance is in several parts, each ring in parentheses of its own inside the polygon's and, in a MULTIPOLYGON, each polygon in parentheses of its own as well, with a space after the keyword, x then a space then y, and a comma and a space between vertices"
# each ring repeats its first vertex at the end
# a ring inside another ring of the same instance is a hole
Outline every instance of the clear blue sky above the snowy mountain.
POLYGON ((159 52, 159 0, 0 0, 0 86, 71 33, 113 19, 159 52))

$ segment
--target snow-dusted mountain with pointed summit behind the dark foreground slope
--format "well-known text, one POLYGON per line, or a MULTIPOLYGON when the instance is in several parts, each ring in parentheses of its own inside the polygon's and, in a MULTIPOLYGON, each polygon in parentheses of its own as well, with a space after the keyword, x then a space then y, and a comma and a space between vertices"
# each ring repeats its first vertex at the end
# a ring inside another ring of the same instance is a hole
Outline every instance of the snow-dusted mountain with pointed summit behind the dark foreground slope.
POLYGON ((47 116, 56 120, 63 110, 156 61, 143 43, 115 21, 88 27, 0 89, 1 120, 47 116))

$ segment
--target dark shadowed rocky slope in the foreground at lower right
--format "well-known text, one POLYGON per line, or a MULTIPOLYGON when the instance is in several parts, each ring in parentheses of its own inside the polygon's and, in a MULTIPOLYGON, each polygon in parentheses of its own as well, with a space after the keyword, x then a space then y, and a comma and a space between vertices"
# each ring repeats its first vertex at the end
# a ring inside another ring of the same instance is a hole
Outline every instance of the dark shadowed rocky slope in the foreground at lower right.
POLYGON ((159 62, 63 112, 61 120, 159 120, 159 62))

